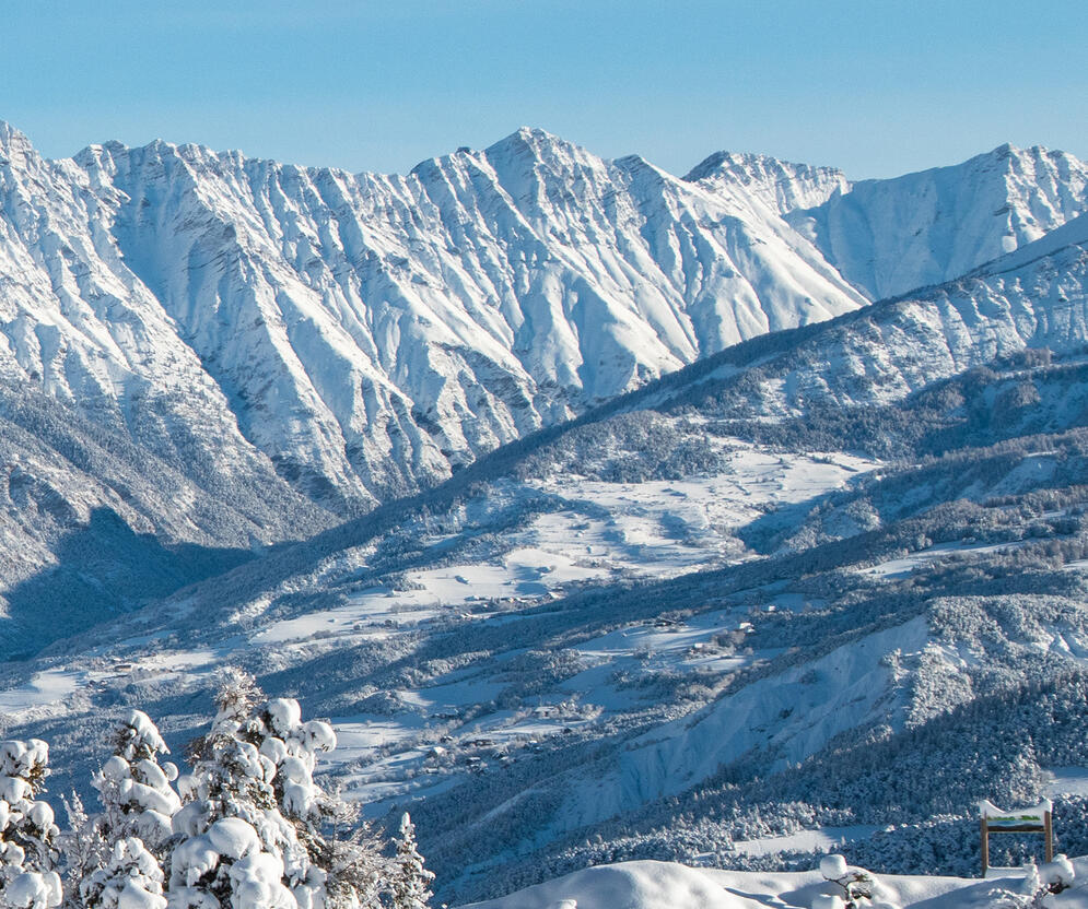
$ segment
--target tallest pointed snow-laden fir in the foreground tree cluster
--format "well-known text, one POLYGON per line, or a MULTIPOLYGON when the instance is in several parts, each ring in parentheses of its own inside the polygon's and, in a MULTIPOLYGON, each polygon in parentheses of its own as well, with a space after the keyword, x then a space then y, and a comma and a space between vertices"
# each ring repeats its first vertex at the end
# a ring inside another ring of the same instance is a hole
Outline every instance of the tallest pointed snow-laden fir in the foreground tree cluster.
POLYGON ((180 841, 169 858, 172 909, 324 906, 325 874, 279 808, 276 764, 257 749, 258 697, 251 675, 224 672, 211 731, 194 749, 192 774, 178 780, 185 804, 173 819, 180 841))

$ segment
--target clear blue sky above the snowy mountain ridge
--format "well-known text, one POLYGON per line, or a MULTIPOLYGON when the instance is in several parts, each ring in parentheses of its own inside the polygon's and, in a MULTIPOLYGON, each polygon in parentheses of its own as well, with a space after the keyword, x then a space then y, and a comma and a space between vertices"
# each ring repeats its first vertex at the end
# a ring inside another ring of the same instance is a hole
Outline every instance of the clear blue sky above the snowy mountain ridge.
POLYGON ((0 0, 0 119, 405 172, 520 125, 685 173, 853 177, 1005 141, 1088 157, 1086 0, 0 0))

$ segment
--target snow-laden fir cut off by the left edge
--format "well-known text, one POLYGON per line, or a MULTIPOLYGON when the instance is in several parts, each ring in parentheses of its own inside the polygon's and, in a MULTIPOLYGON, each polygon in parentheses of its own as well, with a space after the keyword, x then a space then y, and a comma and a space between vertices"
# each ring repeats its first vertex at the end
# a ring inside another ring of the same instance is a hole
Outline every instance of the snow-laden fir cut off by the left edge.
POLYGON ((0 905, 50 909, 62 899, 52 808, 35 799, 49 774, 39 739, 0 742, 0 905))

